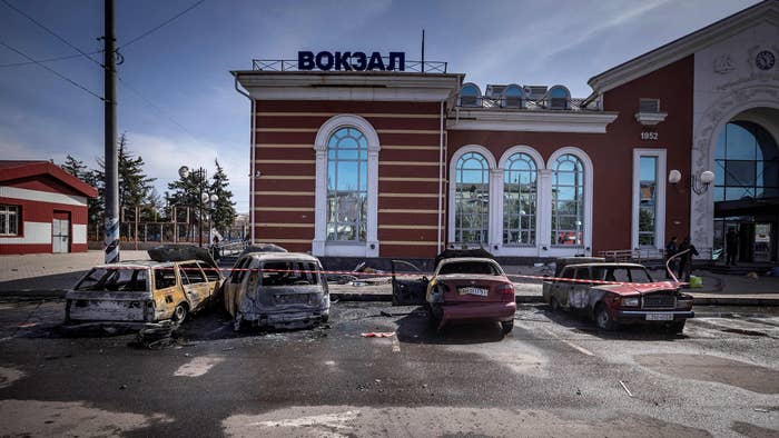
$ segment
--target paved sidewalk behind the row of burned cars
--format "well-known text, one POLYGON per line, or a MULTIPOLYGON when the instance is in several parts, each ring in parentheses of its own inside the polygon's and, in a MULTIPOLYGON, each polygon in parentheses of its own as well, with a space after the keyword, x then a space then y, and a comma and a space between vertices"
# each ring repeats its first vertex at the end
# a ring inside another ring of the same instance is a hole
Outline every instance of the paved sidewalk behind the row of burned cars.
MULTIPOLYGON (((148 260, 146 251, 124 250, 122 260, 148 260)), ((0 256, 0 298, 61 298, 65 290, 92 266, 102 263, 102 251, 58 255, 0 256)), ((554 275, 548 267, 504 266, 515 281, 516 302, 542 302, 541 280, 522 279, 515 275, 543 277, 554 275)), ((779 306, 779 277, 731 276, 697 270, 703 278, 703 287, 687 289, 697 305, 719 306, 779 306)), ((651 271, 653 278, 664 278, 660 270, 651 271)), ((388 279, 387 279, 388 280, 388 279)), ((352 286, 329 285, 334 300, 389 301, 392 285, 352 286)))

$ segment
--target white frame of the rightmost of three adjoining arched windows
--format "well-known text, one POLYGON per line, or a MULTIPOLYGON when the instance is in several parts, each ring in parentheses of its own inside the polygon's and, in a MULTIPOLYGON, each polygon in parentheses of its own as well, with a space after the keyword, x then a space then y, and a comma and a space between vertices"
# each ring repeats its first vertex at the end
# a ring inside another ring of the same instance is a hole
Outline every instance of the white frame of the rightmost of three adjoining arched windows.
POLYGON ((582 161, 584 167, 584 247, 571 247, 565 248, 564 246, 553 246, 552 243, 552 181, 544 182, 544 200, 543 200, 543 221, 544 229, 540 230, 539 243, 542 245, 543 251, 542 256, 545 257, 571 257, 580 253, 585 256, 592 255, 592 201, 593 201, 593 190, 592 180, 594 178, 594 171, 592 167, 592 160, 590 156, 586 155, 582 149, 568 146, 555 150, 549 160, 546 160, 546 169, 549 169, 549 178, 552 177, 554 172, 554 161, 561 156, 570 153, 575 156, 582 161))

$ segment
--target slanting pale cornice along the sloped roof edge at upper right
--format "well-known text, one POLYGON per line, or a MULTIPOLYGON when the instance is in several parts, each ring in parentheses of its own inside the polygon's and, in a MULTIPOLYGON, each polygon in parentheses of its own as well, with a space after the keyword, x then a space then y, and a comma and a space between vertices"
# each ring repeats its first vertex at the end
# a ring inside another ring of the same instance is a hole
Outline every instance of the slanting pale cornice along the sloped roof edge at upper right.
POLYGON ((723 18, 700 30, 594 76, 590 78, 588 84, 592 87, 594 93, 603 93, 680 59, 687 58, 741 31, 750 30, 759 22, 779 24, 779 1, 767 0, 723 18))

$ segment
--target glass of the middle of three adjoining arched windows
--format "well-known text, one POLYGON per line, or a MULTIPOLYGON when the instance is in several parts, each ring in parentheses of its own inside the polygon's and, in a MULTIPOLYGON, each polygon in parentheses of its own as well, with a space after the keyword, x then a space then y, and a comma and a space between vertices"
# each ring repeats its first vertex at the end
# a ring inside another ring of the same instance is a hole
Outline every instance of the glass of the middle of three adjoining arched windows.
POLYGON ((503 243, 535 245, 538 169, 527 153, 514 153, 503 172, 503 243))

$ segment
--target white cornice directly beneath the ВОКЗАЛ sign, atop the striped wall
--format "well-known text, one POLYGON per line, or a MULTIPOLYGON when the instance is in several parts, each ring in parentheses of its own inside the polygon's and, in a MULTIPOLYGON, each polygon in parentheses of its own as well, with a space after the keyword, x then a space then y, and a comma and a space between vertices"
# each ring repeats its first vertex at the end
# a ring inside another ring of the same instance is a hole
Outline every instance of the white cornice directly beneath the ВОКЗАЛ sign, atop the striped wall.
POLYGON ((233 71, 258 100, 442 101, 460 91, 464 74, 391 72, 233 71))

